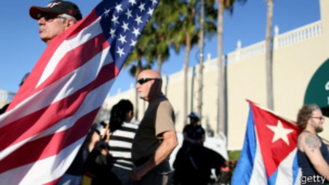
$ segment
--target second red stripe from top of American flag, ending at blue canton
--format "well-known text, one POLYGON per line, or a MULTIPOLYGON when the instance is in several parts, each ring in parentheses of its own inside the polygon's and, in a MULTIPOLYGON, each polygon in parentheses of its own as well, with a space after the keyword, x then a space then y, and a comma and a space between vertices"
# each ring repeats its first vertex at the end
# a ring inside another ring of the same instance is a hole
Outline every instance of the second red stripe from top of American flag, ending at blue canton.
POLYGON ((104 34, 99 34, 79 47, 68 51, 60 60, 53 73, 34 90, 34 93, 81 67, 107 47, 109 47, 109 44, 104 34))

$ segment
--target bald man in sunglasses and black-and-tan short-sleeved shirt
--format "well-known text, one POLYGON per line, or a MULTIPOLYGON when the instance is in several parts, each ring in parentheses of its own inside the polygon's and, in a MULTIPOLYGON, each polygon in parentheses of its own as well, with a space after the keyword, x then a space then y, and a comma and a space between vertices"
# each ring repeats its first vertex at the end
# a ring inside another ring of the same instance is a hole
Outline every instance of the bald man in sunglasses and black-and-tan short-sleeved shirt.
POLYGON ((132 146, 135 184, 168 184, 171 177, 169 156, 177 146, 174 110, 161 92, 162 80, 154 70, 138 75, 139 97, 149 102, 132 146))

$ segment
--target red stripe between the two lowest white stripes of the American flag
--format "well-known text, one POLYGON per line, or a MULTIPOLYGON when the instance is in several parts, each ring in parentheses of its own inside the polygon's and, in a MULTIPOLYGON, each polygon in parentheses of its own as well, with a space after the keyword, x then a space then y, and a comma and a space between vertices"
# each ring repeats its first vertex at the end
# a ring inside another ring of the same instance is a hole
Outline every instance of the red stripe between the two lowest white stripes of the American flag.
POLYGON ((57 155, 65 147, 81 139, 88 133, 88 128, 96 118, 98 110, 99 108, 96 108, 81 117, 74 126, 65 131, 26 143, 0 162, 0 173, 57 155))

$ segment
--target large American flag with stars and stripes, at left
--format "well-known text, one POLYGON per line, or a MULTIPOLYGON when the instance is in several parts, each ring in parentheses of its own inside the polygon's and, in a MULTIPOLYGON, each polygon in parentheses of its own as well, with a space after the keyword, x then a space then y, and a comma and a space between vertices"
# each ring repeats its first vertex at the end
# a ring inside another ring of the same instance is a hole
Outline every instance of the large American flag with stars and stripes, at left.
POLYGON ((0 116, 0 184, 65 173, 158 1, 102 1, 51 41, 0 116))

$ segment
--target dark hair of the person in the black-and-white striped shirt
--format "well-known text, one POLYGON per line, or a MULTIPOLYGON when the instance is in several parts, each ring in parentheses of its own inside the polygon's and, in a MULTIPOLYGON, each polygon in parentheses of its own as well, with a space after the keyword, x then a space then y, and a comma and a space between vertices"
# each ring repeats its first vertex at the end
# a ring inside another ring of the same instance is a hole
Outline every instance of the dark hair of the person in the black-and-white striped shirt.
POLYGON ((133 111, 134 106, 129 100, 120 100, 115 104, 111 110, 111 117, 109 118, 109 129, 111 132, 118 130, 123 121, 126 119, 126 114, 133 111))

